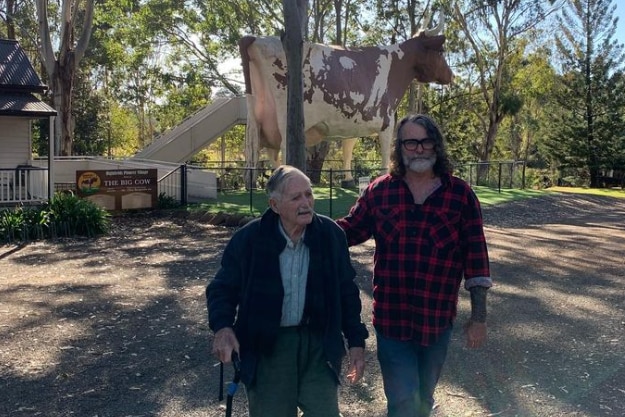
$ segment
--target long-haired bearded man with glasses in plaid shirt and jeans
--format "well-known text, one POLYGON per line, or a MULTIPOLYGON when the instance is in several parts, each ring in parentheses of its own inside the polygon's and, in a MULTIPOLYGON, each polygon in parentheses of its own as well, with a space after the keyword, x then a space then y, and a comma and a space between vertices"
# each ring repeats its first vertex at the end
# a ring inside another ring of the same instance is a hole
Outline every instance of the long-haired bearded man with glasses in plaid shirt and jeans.
POLYGON ((428 116, 398 123, 390 172, 339 219, 349 245, 375 239, 373 326, 389 417, 425 417, 447 356, 458 293, 471 294, 466 345, 486 340, 491 287, 479 201, 452 175, 443 135, 428 116))

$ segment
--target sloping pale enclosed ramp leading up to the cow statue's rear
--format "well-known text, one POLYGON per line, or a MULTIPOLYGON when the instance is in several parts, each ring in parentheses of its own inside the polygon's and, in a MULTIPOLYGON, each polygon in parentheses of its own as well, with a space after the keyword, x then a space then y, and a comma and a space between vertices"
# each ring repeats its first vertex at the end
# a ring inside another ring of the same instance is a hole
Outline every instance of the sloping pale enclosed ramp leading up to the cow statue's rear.
POLYGON ((158 136, 131 159, 184 163, 232 126, 247 121, 245 97, 221 98, 158 136))

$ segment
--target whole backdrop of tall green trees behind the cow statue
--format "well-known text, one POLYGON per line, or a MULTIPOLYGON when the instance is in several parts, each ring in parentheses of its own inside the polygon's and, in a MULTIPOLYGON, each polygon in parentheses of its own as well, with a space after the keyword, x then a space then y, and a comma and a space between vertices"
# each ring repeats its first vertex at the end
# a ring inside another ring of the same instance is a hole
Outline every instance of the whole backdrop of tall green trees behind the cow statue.
MULTIPOLYGON (((285 4, 22 0, 2 3, 0 30, 20 41, 51 86, 57 149, 124 157, 216 97, 242 94, 237 42, 292 31, 285 4)), ((432 114, 457 163, 523 159, 545 175, 574 175, 591 186, 623 175, 625 56, 615 29, 625 22, 617 21, 614 1, 294 4, 307 6, 303 39, 343 46, 400 42, 443 10, 454 83, 415 83, 399 114, 432 114)), ((242 135, 233 129, 195 160, 240 160, 242 135)), ((375 140, 358 146, 361 155, 379 155, 375 140)), ((340 156, 336 149, 318 146, 309 161, 318 168, 329 152, 340 156)))

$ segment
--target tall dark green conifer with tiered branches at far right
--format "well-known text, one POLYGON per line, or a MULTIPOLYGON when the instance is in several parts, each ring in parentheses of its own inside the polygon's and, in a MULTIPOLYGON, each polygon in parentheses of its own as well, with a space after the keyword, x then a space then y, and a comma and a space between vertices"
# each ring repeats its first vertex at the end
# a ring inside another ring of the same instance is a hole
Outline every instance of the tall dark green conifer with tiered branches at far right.
POLYGON ((615 7, 612 0, 569 0, 555 36, 561 70, 556 98, 563 112, 549 149, 562 169, 587 170, 591 187, 599 185, 602 170, 625 159, 625 54, 614 38, 615 7))

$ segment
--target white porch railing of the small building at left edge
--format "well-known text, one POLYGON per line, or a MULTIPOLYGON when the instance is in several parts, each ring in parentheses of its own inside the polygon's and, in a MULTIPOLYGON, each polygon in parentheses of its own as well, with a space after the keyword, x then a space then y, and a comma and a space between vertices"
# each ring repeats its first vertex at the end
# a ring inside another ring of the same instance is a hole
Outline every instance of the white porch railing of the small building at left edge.
POLYGON ((47 199, 47 169, 31 166, 0 168, 0 204, 38 203, 47 199))

